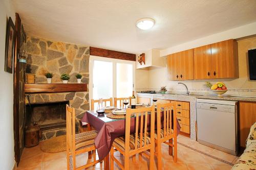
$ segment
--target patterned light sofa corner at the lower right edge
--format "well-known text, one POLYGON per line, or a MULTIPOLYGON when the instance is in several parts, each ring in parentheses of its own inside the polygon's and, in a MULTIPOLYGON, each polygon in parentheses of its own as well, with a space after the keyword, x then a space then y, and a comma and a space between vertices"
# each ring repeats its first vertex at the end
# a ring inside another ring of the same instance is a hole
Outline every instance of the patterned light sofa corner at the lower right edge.
POLYGON ((232 170, 241 169, 256 170, 256 122, 251 126, 244 153, 232 167, 232 170))

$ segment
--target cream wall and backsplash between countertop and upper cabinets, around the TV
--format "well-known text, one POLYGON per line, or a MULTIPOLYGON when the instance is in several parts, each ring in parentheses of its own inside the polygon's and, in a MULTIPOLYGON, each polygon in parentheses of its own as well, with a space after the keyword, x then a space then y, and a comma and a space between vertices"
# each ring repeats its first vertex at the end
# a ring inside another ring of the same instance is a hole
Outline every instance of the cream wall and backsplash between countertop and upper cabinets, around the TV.
MULTIPOLYGON (((215 79, 215 80, 188 80, 188 81, 167 81, 167 68, 151 68, 144 73, 148 75, 148 89, 159 90, 160 86, 167 86, 168 90, 185 90, 178 82, 185 83, 192 91, 207 91, 205 81, 212 83, 222 81, 230 89, 226 94, 235 95, 256 95, 256 81, 249 80, 247 51, 256 48, 256 37, 238 41, 239 78, 238 79, 215 79)), ((140 75, 143 76, 143 75, 140 75)), ((136 78, 137 80, 137 78, 136 78)))

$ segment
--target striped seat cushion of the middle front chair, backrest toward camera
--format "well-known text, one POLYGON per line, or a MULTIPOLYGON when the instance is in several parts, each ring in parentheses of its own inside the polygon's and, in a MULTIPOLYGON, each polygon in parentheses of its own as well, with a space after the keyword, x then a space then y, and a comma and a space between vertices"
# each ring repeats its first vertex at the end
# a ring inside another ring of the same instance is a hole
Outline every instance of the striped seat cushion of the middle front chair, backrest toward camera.
MULTIPOLYGON (((122 151, 124 151, 124 139, 125 137, 118 137, 114 140, 115 147, 120 148, 122 151)), ((146 144, 150 143, 150 137, 146 136, 146 144)), ((142 146, 144 146, 144 134, 142 137, 142 146)), ((140 147, 140 134, 138 134, 138 140, 137 140, 137 148, 140 147)), ((130 150, 135 149, 135 134, 130 135, 130 150)))

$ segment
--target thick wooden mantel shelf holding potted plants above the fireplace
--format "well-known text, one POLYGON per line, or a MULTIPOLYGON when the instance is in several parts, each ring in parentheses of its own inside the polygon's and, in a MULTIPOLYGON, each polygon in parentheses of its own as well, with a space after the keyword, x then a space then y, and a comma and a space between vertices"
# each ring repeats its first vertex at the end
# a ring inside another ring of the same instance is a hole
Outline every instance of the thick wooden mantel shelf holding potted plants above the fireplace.
POLYGON ((86 83, 25 84, 25 93, 87 91, 86 83))

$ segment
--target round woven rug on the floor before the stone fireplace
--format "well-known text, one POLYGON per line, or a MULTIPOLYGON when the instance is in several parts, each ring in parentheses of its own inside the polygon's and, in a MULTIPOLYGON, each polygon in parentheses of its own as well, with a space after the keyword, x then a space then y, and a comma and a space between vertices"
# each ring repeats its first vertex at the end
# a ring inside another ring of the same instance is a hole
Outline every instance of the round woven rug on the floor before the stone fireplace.
POLYGON ((40 149, 44 152, 66 151, 66 135, 53 137, 41 142, 40 149))

